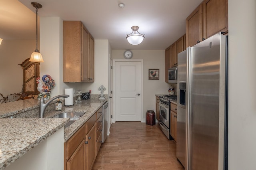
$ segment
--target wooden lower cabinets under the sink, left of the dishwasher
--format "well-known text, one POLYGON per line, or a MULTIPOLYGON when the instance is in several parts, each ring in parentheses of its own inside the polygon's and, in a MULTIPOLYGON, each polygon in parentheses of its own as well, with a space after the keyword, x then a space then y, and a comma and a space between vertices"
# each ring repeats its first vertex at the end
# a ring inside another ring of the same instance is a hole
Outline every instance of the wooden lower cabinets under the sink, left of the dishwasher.
POLYGON ((64 170, 91 170, 102 143, 102 107, 64 143, 64 170))

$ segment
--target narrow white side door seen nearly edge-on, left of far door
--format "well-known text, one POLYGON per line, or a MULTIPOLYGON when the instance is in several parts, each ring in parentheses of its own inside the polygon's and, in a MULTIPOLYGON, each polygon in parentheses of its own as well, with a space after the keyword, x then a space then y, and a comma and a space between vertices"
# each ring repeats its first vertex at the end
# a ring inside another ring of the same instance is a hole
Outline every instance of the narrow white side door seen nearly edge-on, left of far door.
POLYGON ((108 135, 110 133, 110 127, 112 125, 112 90, 113 90, 113 85, 112 85, 112 58, 110 57, 110 54, 108 54, 108 94, 109 94, 109 98, 108 98, 108 135))

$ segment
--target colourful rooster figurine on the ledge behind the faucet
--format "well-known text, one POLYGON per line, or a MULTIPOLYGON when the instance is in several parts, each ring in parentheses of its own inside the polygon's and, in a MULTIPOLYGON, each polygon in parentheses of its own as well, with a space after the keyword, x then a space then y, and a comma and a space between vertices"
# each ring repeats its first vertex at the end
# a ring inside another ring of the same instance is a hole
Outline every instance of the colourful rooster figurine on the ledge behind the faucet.
POLYGON ((55 86, 55 82, 50 75, 43 75, 42 80, 40 80, 40 77, 36 78, 36 83, 38 83, 37 90, 40 93, 38 98, 41 98, 45 93, 51 92, 51 89, 55 86))

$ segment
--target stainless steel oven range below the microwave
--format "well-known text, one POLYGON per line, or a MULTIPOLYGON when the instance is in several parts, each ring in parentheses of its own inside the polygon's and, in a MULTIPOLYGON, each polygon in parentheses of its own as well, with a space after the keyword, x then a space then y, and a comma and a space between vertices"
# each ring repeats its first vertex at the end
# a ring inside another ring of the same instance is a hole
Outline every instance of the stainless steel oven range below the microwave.
POLYGON ((159 96, 159 109, 160 109, 160 129, 164 132, 165 136, 172 140, 172 136, 170 135, 170 101, 177 100, 176 95, 164 95, 159 96))

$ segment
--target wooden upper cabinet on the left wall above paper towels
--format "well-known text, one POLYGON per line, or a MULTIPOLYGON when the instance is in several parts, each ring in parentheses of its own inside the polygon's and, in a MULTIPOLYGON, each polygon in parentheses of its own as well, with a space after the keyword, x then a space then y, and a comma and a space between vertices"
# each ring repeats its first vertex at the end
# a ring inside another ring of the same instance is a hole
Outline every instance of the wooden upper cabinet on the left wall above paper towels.
POLYGON ((94 40, 81 21, 63 21, 63 81, 94 82, 94 40))

